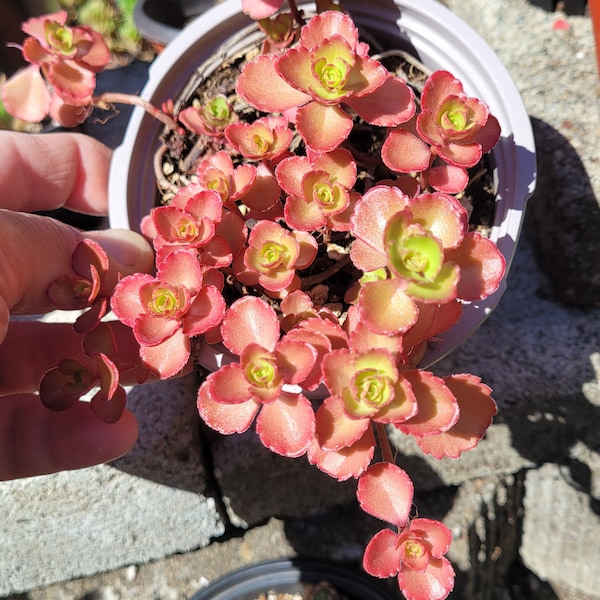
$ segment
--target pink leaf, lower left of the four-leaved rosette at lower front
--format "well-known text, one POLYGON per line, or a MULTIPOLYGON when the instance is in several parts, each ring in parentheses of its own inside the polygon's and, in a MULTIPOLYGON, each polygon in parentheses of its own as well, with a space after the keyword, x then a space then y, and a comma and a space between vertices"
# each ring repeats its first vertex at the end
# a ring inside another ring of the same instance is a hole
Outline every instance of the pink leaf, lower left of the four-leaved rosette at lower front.
POLYGON ((205 381, 198 390, 197 407, 204 422, 223 435, 246 431, 260 408, 260 402, 254 399, 236 404, 215 401, 209 392, 209 383, 205 381))

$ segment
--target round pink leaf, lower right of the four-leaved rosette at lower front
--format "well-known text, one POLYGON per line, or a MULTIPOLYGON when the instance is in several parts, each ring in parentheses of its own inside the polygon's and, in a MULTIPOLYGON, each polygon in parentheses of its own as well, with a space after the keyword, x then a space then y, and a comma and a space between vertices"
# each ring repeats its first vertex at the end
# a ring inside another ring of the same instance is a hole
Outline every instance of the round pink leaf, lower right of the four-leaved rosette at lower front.
POLYGON ((256 419, 256 433, 273 452, 296 458, 310 446, 315 414, 302 394, 282 392, 277 400, 263 404, 256 419))

